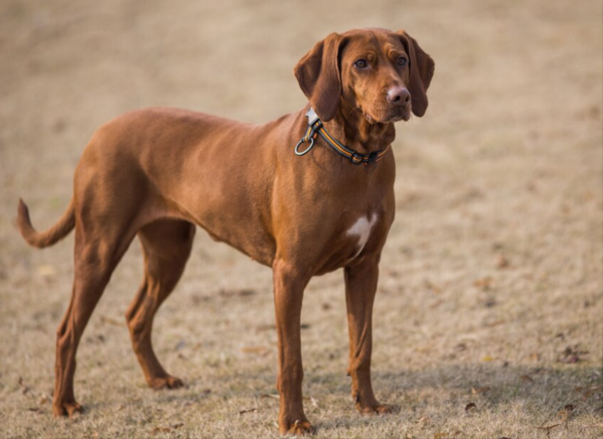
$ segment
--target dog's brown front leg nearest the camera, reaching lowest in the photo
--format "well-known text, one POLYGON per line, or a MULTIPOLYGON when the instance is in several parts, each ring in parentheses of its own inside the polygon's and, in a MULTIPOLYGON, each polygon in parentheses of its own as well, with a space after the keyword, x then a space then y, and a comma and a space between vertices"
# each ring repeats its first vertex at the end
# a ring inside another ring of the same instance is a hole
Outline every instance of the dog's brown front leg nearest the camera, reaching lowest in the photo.
POLYGON ((303 291, 309 279, 293 264, 282 260, 273 265, 274 303, 278 334, 280 393, 279 431, 295 436, 313 432, 302 401, 303 366, 301 360, 301 307, 303 291))

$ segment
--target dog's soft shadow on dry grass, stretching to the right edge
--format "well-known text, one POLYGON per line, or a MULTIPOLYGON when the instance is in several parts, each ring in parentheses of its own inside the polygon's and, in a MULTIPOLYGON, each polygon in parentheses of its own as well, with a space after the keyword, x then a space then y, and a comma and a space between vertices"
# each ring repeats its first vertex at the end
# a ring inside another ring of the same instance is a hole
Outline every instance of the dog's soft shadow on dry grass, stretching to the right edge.
MULTIPOLYGON (((559 410, 567 404, 599 410, 603 404, 603 368, 593 365, 572 364, 553 368, 443 364, 420 371, 374 370, 372 375, 377 398, 402 411, 416 410, 432 403, 450 405, 474 400, 490 408, 522 401, 539 410, 559 410)), ((209 397, 227 399, 230 396, 274 398, 277 394, 275 380, 272 371, 235 371, 221 378, 213 377, 211 383, 202 377, 190 377, 181 390, 159 391, 160 396, 156 401, 179 398, 202 400, 209 397)), ((351 378, 343 371, 307 372, 303 389, 305 396, 348 400, 351 378)))

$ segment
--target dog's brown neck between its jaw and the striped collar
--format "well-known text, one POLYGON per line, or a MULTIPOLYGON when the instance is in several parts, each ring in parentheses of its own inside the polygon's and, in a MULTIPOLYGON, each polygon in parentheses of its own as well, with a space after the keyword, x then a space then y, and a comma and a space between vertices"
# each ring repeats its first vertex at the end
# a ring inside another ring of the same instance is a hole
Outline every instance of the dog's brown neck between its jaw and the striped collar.
POLYGON ((335 117, 324 125, 342 144, 362 154, 381 151, 396 137, 393 123, 370 122, 361 109, 344 102, 339 105, 335 117))

